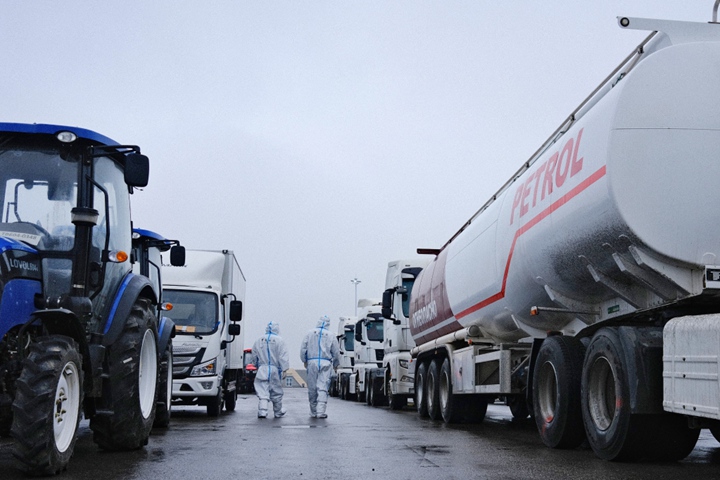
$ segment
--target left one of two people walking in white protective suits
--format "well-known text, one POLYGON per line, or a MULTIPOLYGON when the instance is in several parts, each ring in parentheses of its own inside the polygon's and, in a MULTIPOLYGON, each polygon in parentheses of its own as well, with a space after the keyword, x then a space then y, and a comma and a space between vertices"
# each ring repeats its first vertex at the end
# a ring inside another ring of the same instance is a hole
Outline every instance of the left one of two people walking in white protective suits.
POLYGON ((282 417, 285 415, 282 380, 290 368, 290 356, 277 322, 268 323, 265 335, 253 344, 252 356, 257 367, 254 385, 258 397, 258 418, 267 417, 269 402, 273 404, 275 418, 282 417))

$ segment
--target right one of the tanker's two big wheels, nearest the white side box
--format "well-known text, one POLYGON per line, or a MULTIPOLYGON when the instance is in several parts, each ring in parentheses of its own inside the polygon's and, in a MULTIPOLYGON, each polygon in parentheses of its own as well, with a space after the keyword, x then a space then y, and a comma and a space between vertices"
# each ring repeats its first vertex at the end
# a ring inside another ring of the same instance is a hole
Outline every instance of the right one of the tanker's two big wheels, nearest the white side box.
POLYGON ((617 330, 602 328, 593 336, 582 375, 582 413, 587 439, 603 460, 639 459, 649 428, 642 416, 630 412, 628 379, 617 330))

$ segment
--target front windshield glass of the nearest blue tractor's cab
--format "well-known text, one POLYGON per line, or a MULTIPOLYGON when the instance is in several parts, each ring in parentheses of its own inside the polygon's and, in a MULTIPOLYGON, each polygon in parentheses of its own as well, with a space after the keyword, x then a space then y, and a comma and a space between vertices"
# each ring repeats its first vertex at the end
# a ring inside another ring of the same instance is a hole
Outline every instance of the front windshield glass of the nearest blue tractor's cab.
POLYGON ((56 151, 0 148, 0 235, 39 250, 71 250, 77 178, 78 163, 56 151))

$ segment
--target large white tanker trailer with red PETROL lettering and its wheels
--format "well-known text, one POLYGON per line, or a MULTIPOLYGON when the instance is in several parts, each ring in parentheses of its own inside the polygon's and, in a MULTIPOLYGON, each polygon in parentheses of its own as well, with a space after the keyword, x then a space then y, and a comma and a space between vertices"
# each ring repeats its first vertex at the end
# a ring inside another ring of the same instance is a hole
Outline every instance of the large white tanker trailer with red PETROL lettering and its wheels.
MULTIPOLYGON (((719 0, 720 2, 720 0, 719 0)), ((717 11, 717 3, 716 3, 717 11)), ((440 249, 411 304, 421 416, 681 459, 720 433, 720 24, 652 33, 440 249)))

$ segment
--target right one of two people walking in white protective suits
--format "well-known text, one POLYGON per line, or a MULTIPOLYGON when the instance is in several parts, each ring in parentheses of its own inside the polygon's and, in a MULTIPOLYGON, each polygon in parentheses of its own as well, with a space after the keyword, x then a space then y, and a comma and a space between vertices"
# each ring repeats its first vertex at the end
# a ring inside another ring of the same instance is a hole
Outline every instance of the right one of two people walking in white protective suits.
POLYGON ((330 318, 323 316, 303 338, 300 359, 307 369, 310 416, 327 418, 328 388, 332 372, 340 364, 340 347, 330 331, 330 318))

